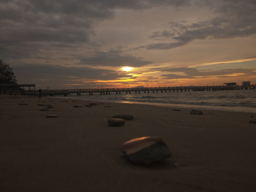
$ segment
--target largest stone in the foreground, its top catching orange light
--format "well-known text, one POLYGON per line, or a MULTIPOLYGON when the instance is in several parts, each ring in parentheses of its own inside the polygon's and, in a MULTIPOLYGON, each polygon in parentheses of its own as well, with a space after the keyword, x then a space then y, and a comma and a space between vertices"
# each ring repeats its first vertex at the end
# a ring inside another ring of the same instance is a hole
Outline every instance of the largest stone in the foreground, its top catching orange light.
POLYGON ((134 164, 149 165, 154 161, 161 161, 171 157, 169 147, 160 137, 139 137, 121 146, 124 158, 134 164))

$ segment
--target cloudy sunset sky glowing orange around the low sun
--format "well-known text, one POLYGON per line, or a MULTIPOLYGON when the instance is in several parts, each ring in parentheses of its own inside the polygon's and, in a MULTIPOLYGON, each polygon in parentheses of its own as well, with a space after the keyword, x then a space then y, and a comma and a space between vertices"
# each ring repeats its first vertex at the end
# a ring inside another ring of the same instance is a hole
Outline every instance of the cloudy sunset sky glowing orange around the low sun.
POLYGON ((255 0, 1 0, 0 26, 38 89, 256 82, 255 0))

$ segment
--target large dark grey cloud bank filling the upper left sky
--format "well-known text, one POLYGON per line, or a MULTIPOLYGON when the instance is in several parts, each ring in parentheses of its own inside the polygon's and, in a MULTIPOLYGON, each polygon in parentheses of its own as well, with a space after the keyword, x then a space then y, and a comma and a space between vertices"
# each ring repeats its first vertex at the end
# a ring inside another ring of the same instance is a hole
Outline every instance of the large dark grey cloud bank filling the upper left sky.
POLYGON ((149 9, 170 4, 180 6, 187 1, 1 1, 1 42, 88 41, 92 25, 113 18, 115 8, 149 9))

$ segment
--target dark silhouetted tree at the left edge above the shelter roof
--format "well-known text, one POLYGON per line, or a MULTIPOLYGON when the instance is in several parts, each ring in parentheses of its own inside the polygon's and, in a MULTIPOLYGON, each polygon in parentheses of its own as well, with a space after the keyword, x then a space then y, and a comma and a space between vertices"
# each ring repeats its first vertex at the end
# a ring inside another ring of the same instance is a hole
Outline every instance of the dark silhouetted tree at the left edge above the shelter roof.
POLYGON ((12 71, 9 63, 4 63, 4 60, 0 58, 0 84, 12 84, 16 83, 16 76, 12 71))

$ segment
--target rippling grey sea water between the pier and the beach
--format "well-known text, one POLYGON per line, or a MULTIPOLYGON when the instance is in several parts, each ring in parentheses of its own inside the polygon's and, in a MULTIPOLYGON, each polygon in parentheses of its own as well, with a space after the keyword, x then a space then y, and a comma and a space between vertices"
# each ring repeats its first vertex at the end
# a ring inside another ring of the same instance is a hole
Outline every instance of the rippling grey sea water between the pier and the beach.
MULTIPOLYGON (((60 96, 58 96, 60 97, 60 96)), ((62 97, 63 98, 63 97, 62 97)), ((197 92, 121 92, 116 95, 100 95, 94 93, 82 93, 68 95, 70 99, 88 100, 98 102, 122 102, 144 105, 156 105, 162 107, 186 107, 191 109, 225 110, 235 112, 256 113, 256 90, 212 90, 197 92)))

